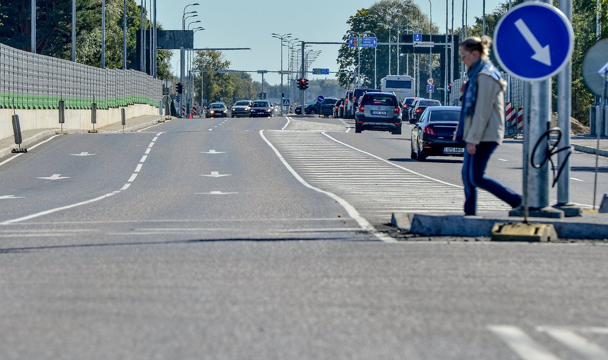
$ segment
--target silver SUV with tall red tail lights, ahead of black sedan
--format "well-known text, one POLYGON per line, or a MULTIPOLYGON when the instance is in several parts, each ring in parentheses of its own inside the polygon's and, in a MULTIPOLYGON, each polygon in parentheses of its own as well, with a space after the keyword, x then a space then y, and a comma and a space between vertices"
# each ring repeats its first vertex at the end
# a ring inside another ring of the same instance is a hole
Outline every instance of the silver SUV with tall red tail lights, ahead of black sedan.
POLYGON ((391 92, 366 92, 354 109, 354 132, 390 131, 401 134, 401 106, 391 92))

